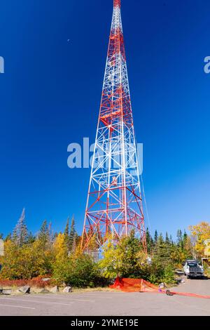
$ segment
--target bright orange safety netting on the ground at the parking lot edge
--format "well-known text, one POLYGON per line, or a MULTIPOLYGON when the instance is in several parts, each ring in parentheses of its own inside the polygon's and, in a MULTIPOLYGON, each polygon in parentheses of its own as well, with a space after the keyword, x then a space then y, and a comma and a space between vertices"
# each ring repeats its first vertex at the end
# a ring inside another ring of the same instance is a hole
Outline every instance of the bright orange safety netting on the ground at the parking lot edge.
POLYGON ((125 292, 153 292, 153 293, 169 293, 169 295, 179 295, 179 296, 188 296, 195 298, 207 298, 210 299, 210 296, 197 294, 197 293, 189 293, 189 292, 177 292, 177 291, 169 291, 165 289, 160 289, 158 286, 151 284, 145 279, 121 279, 117 277, 114 284, 110 286, 111 289, 118 289, 125 292))

